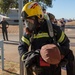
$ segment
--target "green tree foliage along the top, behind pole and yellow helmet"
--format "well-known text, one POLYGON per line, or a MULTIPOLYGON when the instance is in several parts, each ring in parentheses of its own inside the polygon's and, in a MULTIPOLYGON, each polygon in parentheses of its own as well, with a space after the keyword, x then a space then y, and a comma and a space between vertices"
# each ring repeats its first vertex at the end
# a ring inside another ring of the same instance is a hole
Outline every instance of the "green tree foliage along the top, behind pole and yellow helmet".
MULTIPOLYGON (((31 1, 37 1, 43 7, 52 6, 52 0, 31 0, 31 1)), ((24 0, 24 4, 27 2, 29 2, 29 0, 24 0)), ((18 8, 18 0, 0 0, 0 11, 1 12, 6 14, 10 7, 18 8)))

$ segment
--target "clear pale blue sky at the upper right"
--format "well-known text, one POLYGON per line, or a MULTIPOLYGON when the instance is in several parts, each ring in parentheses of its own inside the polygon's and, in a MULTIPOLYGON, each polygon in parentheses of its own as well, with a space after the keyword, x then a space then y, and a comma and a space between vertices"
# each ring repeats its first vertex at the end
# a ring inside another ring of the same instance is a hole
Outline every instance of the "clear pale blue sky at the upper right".
POLYGON ((52 5, 47 12, 53 13, 57 19, 75 19, 75 0, 53 0, 52 5))

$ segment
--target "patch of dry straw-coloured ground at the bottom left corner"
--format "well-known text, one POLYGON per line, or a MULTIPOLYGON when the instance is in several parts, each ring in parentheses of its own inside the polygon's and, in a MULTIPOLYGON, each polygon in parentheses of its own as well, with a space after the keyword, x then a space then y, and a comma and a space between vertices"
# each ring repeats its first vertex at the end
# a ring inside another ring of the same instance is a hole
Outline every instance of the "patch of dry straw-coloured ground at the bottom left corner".
POLYGON ((19 75, 19 63, 4 61, 4 71, 0 69, 0 75, 19 75))

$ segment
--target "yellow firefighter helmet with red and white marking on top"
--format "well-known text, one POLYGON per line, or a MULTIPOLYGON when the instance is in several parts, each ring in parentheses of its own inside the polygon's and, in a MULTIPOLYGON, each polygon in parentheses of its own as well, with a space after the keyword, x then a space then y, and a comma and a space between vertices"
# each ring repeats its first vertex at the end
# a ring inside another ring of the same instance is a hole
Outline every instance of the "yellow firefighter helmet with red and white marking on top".
POLYGON ((41 6, 37 2, 28 2, 24 5, 21 15, 23 19, 33 16, 41 18, 43 16, 43 11, 41 6))

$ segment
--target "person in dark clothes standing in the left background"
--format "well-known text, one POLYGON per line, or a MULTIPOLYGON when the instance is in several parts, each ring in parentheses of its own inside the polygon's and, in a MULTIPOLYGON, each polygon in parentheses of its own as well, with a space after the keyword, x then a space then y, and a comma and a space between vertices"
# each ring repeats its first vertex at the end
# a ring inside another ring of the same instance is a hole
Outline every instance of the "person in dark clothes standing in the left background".
POLYGON ((2 28, 3 39, 8 41, 7 28, 9 27, 9 23, 5 20, 5 18, 3 18, 0 24, 2 24, 0 28, 2 28))

